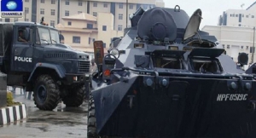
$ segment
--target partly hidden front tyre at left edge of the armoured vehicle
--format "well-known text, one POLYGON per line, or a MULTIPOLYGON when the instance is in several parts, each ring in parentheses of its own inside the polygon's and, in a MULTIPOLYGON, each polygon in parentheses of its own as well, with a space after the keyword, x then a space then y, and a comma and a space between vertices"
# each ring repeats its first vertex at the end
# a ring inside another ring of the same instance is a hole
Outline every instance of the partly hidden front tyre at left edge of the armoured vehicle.
POLYGON ((88 120, 87 120, 87 137, 88 138, 98 138, 99 135, 96 134, 96 114, 95 105, 90 94, 90 100, 88 103, 88 120))

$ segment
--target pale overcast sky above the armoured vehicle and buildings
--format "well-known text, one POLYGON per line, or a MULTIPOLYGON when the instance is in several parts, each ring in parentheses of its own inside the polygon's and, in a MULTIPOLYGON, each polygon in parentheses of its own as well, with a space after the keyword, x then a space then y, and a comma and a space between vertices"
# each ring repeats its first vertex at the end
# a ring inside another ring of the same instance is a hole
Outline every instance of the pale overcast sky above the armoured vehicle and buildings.
POLYGON ((203 26, 217 26, 218 17, 228 9, 247 9, 256 0, 164 0, 166 8, 174 8, 179 5, 180 9, 186 11, 189 16, 196 9, 201 9, 202 20, 200 29, 203 26), (241 8, 241 4, 244 6, 241 8))

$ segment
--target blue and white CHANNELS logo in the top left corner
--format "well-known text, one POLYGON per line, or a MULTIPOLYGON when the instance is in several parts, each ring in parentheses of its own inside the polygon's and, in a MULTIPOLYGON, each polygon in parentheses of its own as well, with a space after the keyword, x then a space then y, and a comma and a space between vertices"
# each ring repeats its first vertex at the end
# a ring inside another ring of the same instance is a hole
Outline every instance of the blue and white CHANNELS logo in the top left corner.
POLYGON ((2 18, 22 18, 23 0, 1 0, 2 18))

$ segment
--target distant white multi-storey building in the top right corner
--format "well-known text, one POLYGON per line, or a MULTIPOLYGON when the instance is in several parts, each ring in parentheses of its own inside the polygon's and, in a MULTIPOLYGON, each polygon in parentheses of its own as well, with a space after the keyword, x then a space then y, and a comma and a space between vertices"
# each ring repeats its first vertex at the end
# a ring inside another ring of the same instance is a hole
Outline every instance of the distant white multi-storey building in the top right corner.
POLYGON ((256 2, 247 9, 228 9, 219 16, 218 26, 256 26, 256 2))

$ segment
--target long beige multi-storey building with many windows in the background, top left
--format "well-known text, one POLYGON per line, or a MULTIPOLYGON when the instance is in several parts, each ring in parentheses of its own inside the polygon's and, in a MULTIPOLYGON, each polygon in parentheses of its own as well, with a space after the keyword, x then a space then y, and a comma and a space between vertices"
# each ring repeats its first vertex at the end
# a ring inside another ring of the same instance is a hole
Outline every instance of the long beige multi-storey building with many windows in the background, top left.
MULTIPOLYGON (((113 29, 123 31, 126 27, 126 0, 24 0, 24 19, 2 19, 12 22, 28 20, 39 22, 44 16, 51 26, 65 22, 61 17, 72 14, 86 13, 97 16, 98 13, 112 13, 114 17, 113 29)), ((140 6, 144 9, 150 7, 164 7, 163 0, 128 0, 128 15, 133 14, 140 6)), ((128 25, 130 22, 128 20, 128 25)))

